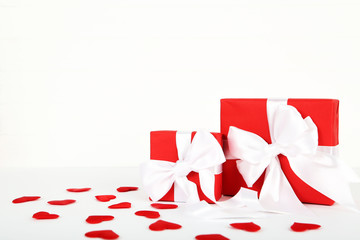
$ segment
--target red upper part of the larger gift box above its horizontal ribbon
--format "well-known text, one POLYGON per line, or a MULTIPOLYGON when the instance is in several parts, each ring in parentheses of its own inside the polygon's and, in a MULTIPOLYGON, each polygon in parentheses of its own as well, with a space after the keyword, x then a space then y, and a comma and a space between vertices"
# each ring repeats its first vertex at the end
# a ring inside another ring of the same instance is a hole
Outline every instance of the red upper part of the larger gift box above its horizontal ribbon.
MULTIPOLYGON (((339 100, 290 98, 287 103, 303 118, 311 117, 318 128, 320 146, 339 144, 339 100)), ((266 106, 265 98, 221 99, 221 133, 227 136, 229 127, 235 126, 271 143, 266 106)))

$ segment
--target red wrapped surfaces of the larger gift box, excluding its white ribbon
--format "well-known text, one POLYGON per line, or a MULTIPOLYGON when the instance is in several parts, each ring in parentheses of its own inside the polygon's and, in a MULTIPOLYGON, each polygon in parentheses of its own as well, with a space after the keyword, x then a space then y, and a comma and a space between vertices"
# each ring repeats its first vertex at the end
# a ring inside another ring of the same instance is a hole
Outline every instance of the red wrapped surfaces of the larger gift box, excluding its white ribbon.
MULTIPOLYGON (((319 146, 339 144, 339 101, 333 99, 288 99, 288 105, 295 107, 303 118, 310 116, 318 128, 319 146)), ((224 148, 229 127, 234 126, 262 137, 271 143, 267 119, 267 99, 221 99, 221 133, 224 135, 224 148)), ((332 205, 334 201, 302 181, 291 169, 288 159, 279 155, 281 168, 303 203, 332 205)), ((265 170, 266 171, 266 170, 265 170)), ((251 189, 260 192, 265 171, 251 189)), ((309 169, 311 171, 311 169, 309 169)), ((236 166, 236 159, 226 159, 223 164, 224 195, 235 195, 240 187, 247 187, 236 166)))

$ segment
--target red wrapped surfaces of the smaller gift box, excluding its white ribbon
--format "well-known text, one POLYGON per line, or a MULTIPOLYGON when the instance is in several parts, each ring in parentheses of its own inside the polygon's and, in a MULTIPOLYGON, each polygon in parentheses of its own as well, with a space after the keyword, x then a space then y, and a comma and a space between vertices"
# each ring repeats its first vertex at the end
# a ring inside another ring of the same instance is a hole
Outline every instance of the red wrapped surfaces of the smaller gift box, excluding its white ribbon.
MULTIPOLYGON (((177 145, 176 145, 176 133, 177 131, 152 131, 150 132, 150 160, 162 160, 168 162, 177 162, 179 160, 177 145)), ((181 133, 186 134, 186 133, 181 133)), ((196 132, 191 134, 191 141, 193 140, 196 132)), ((219 142, 222 147, 222 134, 211 133, 214 138, 219 142)), ((196 184, 199 199, 205 200, 208 203, 213 203, 209 198, 205 196, 200 187, 199 174, 197 172, 190 172, 187 175, 187 179, 196 184)), ((215 174, 215 200, 219 200, 222 191, 222 173, 215 174)), ((160 199, 160 201, 174 201, 174 184, 167 194, 160 199)))

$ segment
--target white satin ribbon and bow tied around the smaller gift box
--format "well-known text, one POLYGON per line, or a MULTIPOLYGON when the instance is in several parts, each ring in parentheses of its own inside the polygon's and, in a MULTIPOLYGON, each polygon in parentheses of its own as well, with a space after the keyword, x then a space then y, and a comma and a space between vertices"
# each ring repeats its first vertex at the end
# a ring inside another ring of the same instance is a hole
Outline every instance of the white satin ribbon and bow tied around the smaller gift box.
POLYGON ((153 201, 158 201, 174 184, 175 201, 198 202, 196 184, 187 179, 187 175, 194 171, 199 173, 202 192, 215 202, 215 174, 221 173, 225 162, 217 140, 209 132, 198 131, 191 142, 191 133, 177 132, 176 145, 177 162, 150 160, 141 165, 145 191, 153 201))

